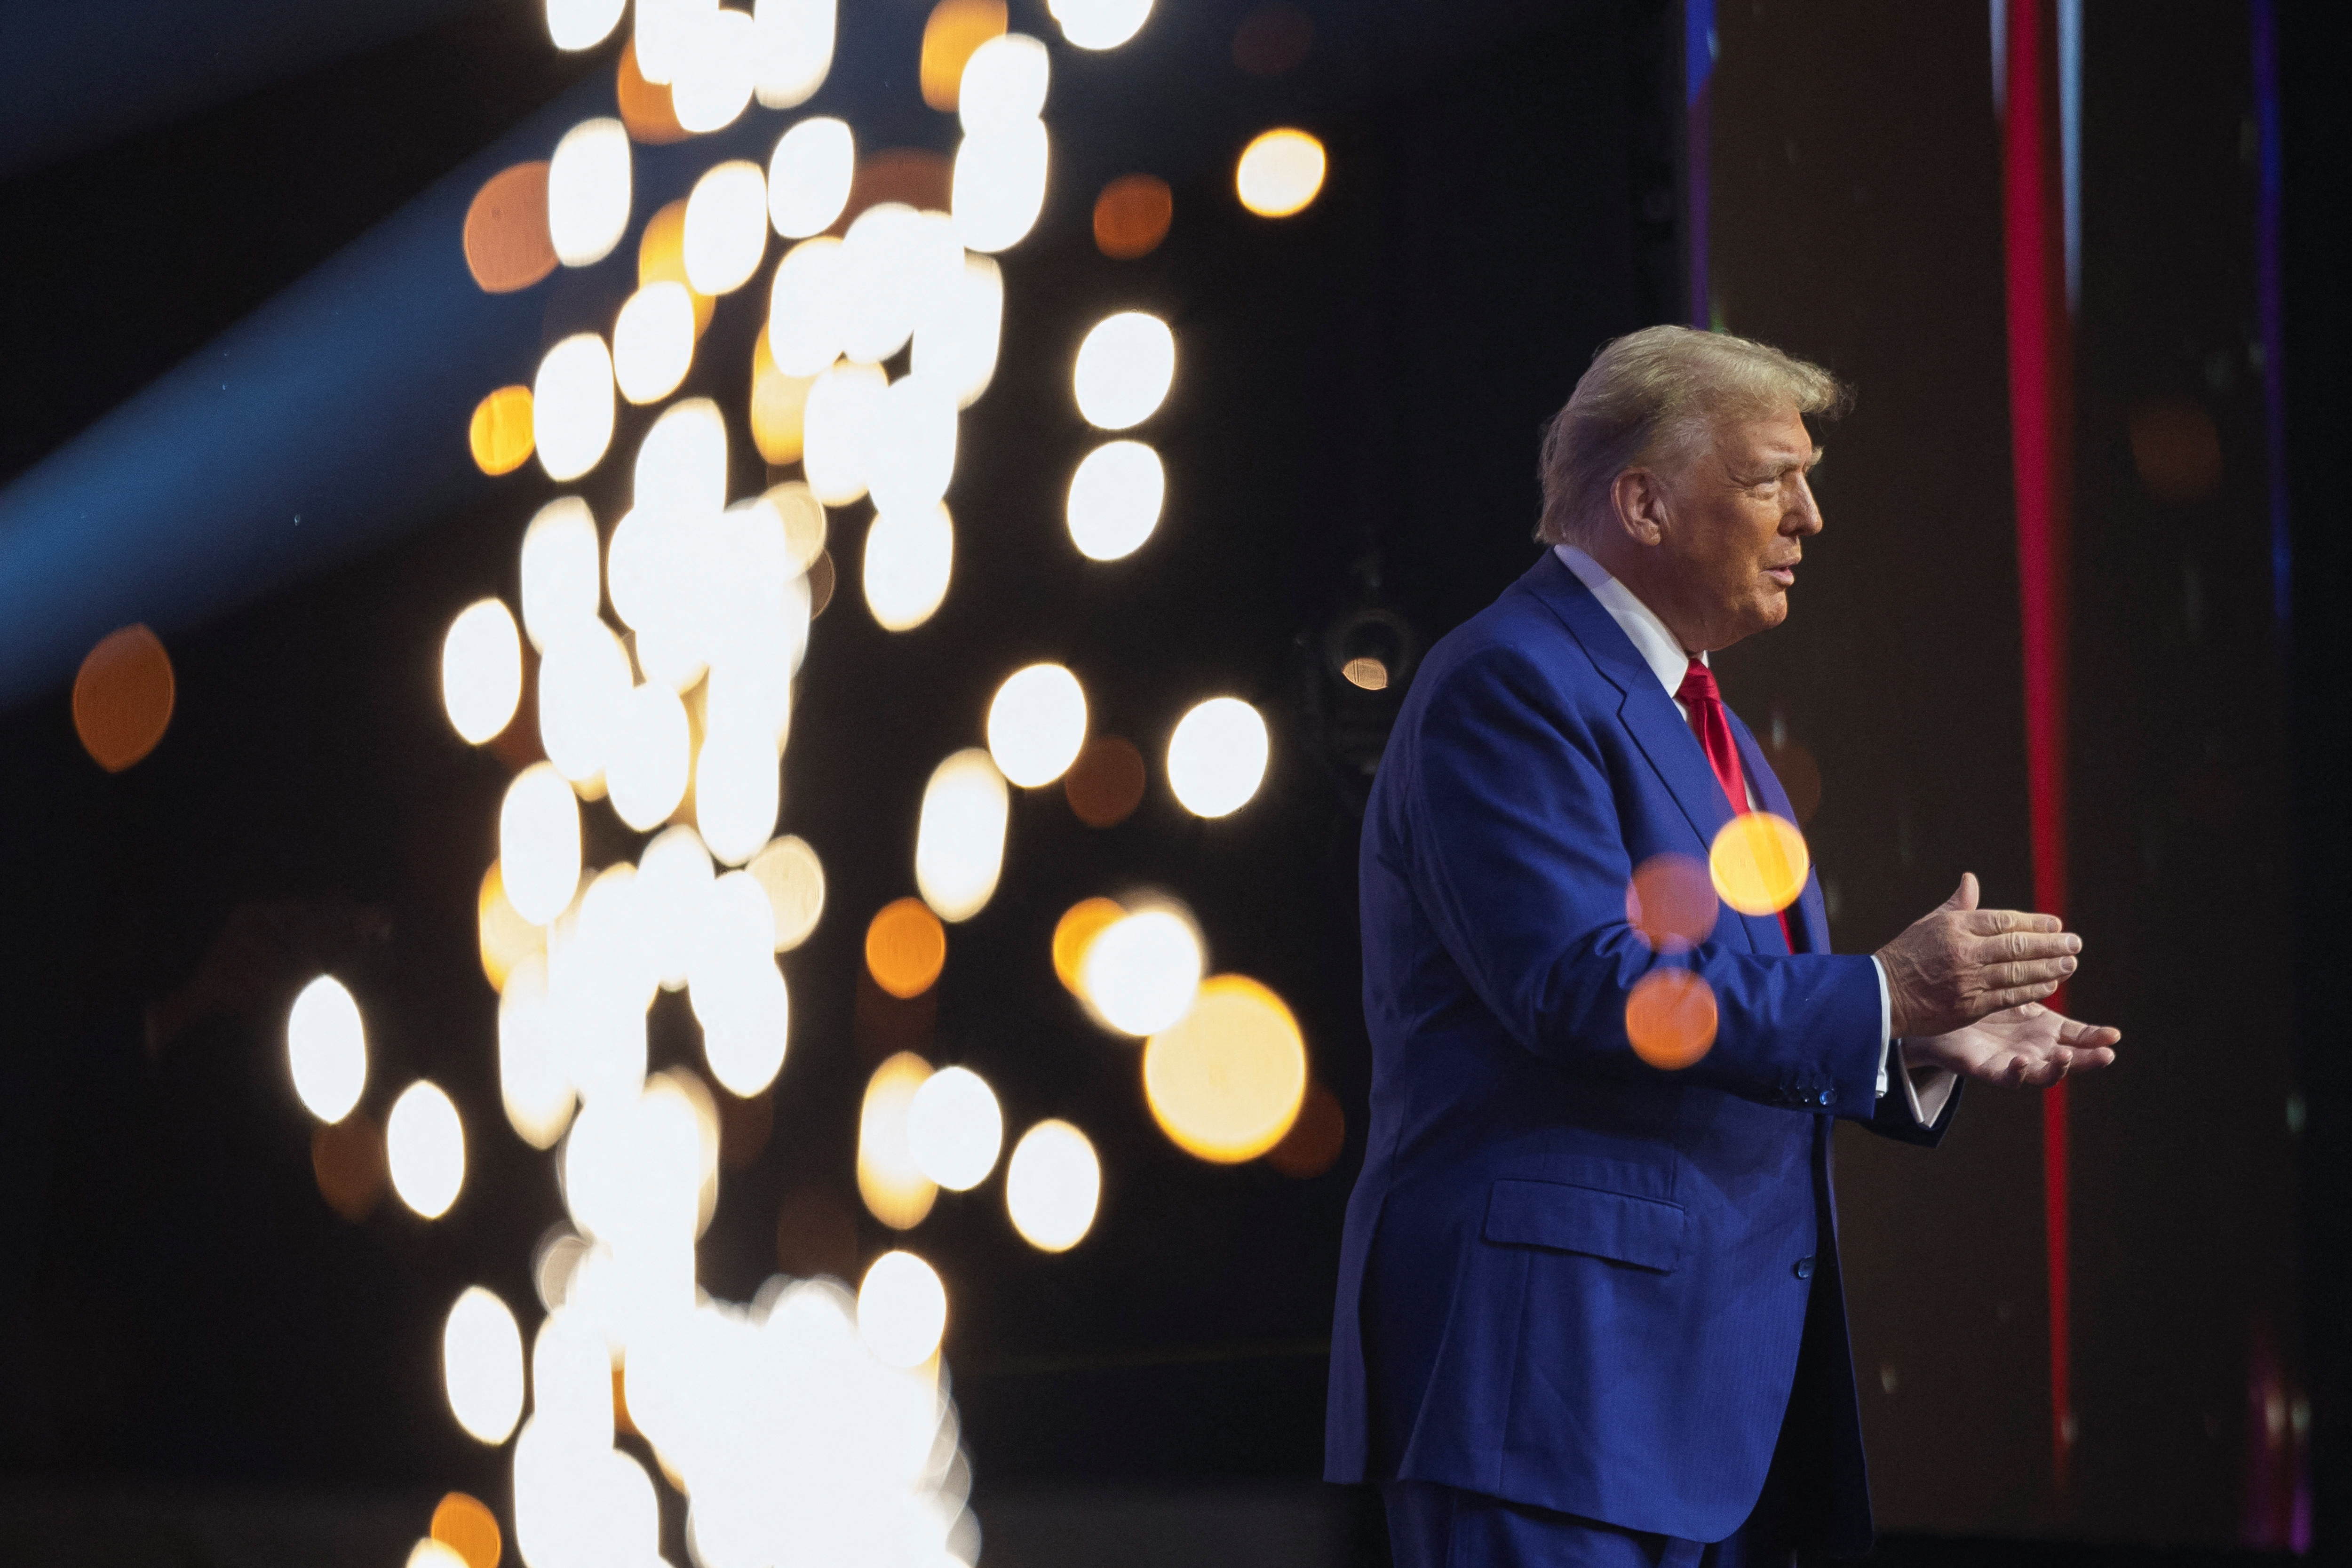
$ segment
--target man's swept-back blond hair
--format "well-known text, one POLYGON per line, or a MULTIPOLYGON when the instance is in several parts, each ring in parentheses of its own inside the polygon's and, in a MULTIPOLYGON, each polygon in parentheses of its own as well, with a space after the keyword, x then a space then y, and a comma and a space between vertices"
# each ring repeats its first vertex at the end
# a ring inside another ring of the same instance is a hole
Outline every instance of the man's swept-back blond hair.
POLYGON ((1837 376, 1729 331, 1644 327, 1602 343, 1569 404, 1543 428, 1536 538, 1576 543, 1609 512, 1628 468, 1689 461, 1717 421, 1795 407, 1835 418, 1853 402, 1837 376))

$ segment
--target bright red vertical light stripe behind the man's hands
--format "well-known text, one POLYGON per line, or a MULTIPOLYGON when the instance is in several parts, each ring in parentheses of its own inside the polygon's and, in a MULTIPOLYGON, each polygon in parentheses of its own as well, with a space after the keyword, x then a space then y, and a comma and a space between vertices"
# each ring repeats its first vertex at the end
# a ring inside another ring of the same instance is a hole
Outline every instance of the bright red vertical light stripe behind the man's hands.
MULTIPOLYGON (((2009 108, 2002 207, 2009 266, 2009 428, 2018 491, 2018 602, 2025 632, 2025 788, 2034 907, 2065 914, 2067 503, 2072 367, 2065 254, 2051 179, 2051 49, 2042 0, 2009 0, 2009 108)), ((2063 1006, 2065 994, 2051 999, 2063 1006)), ((2042 1098, 2042 1220, 2051 1286, 2051 1462, 2067 1486, 2074 1434, 2067 1269, 2067 1098, 2042 1098)))

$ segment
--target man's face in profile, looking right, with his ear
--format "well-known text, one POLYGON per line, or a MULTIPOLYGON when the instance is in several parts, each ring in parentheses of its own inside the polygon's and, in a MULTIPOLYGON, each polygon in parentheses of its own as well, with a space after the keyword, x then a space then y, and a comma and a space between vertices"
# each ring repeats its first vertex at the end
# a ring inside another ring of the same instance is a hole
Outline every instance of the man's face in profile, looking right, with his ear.
POLYGON ((1804 418, 1726 421, 1668 489, 1658 541, 1675 585, 1675 630, 1693 649, 1726 649, 1788 621, 1804 541, 1820 531, 1806 473, 1820 454, 1804 418))

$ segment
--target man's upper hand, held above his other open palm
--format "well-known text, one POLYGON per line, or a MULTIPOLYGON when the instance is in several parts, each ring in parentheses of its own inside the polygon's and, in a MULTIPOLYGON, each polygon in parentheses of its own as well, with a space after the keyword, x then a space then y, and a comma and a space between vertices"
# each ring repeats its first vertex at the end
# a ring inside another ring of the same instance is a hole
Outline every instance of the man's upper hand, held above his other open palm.
POLYGON ((1978 1018, 2042 1001, 2074 973, 2082 938, 2056 914, 1978 910, 1976 872, 1959 891, 1879 947, 1893 1032, 1950 1034, 1978 1018))

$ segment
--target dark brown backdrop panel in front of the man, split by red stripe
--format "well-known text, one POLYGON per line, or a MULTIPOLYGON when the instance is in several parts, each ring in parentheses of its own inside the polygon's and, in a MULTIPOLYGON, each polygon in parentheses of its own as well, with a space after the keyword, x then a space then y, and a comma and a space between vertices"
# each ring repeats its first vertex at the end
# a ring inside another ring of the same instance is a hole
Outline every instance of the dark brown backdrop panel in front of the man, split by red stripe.
MULTIPOLYGON (((2027 905, 2002 165, 1980 5, 1729 0, 1715 320, 1858 386, 1790 623, 1724 691, 1820 764, 1839 950, 1976 870, 2027 905)), ((2091 0, 2074 336, 2070 1495, 2053 1490, 2042 1124, 1846 1128, 1846 1288, 1886 1528, 2237 1540, 2293 1366, 2284 635, 2256 315, 2249 12, 2091 0), (2277 1401, 2270 1410, 2265 1403, 2277 1401)))

